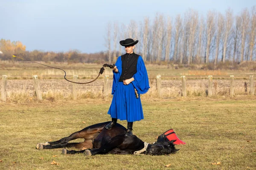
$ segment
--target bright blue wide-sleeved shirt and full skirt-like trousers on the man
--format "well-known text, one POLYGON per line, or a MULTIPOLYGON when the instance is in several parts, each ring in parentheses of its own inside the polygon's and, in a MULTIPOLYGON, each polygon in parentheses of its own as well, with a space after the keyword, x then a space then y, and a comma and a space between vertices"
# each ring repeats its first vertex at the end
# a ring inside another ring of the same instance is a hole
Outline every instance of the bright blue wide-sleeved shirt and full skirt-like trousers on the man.
POLYGON ((119 78, 122 74, 121 56, 118 57, 116 61, 116 67, 118 73, 113 71, 113 99, 108 114, 110 114, 112 118, 127 120, 128 122, 144 119, 140 94, 145 94, 150 87, 148 73, 142 57, 139 56, 138 58, 137 73, 133 75, 134 81, 128 85, 119 82, 119 78), (136 98, 134 88, 136 88, 139 98, 136 98))

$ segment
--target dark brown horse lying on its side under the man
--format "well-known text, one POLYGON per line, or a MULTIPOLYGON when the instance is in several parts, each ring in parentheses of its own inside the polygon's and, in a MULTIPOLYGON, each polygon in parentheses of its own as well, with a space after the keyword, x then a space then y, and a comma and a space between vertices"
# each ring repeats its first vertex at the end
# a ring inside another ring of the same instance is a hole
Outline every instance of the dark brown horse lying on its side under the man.
POLYGON ((173 142, 176 140, 166 140, 161 138, 160 142, 148 144, 140 140, 137 136, 125 136, 126 128, 116 124, 108 130, 105 128, 109 122, 98 123, 85 127, 84 129, 64 137, 55 142, 38 143, 37 149, 53 149, 61 147, 75 147, 83 150, 62 150, 62 154, 84 153, 87 156, 96 154, 150 154, 167 155, 177 152, 173 142), (84 142, 68 143, 71 140, 83 138, 84 142))

